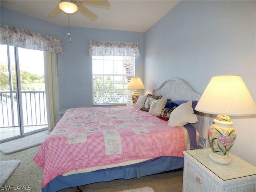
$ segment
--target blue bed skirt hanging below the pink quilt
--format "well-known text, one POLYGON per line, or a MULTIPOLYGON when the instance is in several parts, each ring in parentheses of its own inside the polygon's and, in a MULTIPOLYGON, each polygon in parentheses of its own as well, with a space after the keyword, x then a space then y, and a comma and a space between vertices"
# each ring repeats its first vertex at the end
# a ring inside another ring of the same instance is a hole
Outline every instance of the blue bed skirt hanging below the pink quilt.
POLYGON ((68 176, 59 175, 51 180, 45 188, 42 188, 42 192, 57 192, 65 188, 77 187, 96 182, 112 181, 115 179, 141 178, 142 176, 182 168, 183 164, 184 157, 164 156, 130 166, 108 168, 68 176))

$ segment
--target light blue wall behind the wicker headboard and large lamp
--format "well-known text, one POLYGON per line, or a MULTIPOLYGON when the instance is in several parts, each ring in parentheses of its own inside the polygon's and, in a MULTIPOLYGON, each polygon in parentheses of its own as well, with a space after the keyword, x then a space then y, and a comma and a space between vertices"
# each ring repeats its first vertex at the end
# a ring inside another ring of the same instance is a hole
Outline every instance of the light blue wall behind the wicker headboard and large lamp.
MULTIPOLYGON (((145 92, 178 77, 202 94, 227 73, 240 75, 256 101, 255 36, 255 1, 181 1, 145 32, 145 92)), ((232 152, 256 164, 256 119, 232 120, 232 152)))

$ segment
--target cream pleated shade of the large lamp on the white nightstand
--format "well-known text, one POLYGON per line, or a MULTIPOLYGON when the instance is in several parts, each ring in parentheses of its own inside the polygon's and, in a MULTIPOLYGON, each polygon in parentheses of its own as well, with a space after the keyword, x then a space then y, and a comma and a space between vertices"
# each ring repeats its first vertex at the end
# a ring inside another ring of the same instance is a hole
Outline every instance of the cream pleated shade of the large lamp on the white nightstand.
POLYGON ((195 110, 208 114, 253 116, 256 105, 239 75, 214 76, 195 110))

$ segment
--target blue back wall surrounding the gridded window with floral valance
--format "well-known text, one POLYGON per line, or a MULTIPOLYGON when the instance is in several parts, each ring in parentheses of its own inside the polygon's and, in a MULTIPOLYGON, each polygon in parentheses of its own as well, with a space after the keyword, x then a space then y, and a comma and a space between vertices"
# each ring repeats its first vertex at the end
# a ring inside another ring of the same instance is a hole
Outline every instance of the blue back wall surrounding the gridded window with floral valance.
POLYGON ((61 108, 92 106, 92 58, 89 40, 138 42, 140 58, 136 58, 136 76, 144 77, 144 34, 117 30, 72 27, 70 44, 67 27, 62 27, 63 54, 58 55, 59 98, 61 108))

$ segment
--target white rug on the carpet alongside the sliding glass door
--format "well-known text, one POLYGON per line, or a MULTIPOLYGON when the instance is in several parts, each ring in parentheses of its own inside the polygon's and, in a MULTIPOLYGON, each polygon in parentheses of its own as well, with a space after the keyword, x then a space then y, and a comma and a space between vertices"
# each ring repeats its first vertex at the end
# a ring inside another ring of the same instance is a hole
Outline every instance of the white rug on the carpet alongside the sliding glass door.
POLYGON ((17 151, 21 151, 21 150, 42 144, 42 142, 47 137, 48 135, 45 133, 38 133, 38 134, 25 136, 19 139, 14 139, 12 141, 2 143, 0 145, 1 151, 4 154, 11 154, 17 151))

